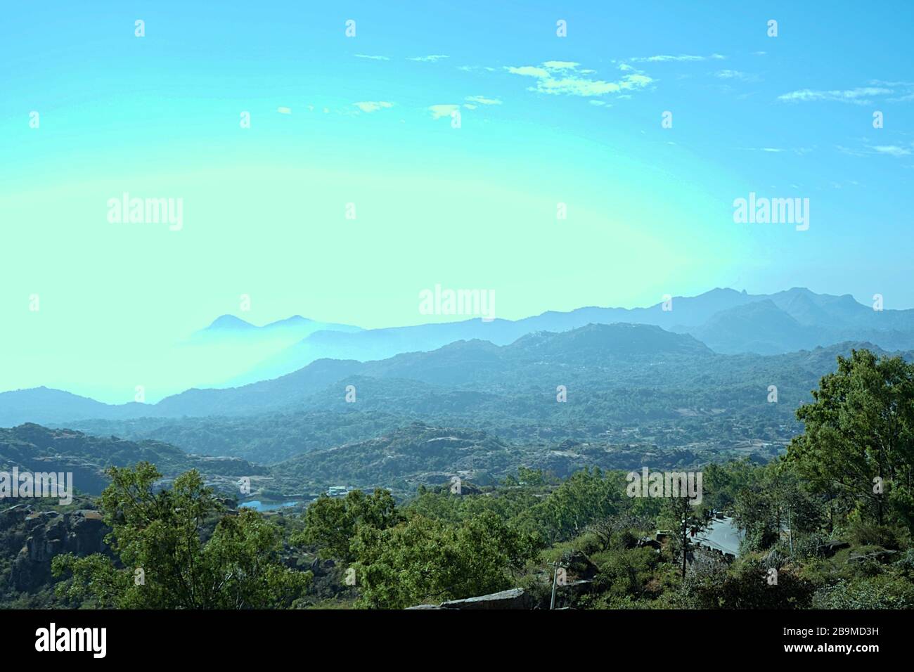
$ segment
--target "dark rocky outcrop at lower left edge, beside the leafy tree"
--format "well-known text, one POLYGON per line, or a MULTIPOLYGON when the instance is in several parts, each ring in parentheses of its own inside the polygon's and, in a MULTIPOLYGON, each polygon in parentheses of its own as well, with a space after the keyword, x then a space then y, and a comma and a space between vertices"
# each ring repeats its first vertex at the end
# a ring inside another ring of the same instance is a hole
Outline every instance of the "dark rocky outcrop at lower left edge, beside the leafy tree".
POLYGON ((108 553, 105 526, 98 511, 80 509, 60 514, 35 512, 25 505, 0 513, 0 546, 13 555, 9 572, 10 587, 31 592, 53 581, 51 559, 63 553, 77 556, 108 553))

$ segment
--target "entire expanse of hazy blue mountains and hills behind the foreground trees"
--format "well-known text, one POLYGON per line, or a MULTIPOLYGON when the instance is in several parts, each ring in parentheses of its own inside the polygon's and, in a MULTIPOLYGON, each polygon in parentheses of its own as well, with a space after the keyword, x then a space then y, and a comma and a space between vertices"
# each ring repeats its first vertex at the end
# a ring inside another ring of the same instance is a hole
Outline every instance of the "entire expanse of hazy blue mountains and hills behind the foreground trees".
POLYGON ((67 467, 96 491, 104 466, 150 459, 166 477, 193 466, 229 489, 250 473, 282 493, 338 483, 409 492, 516 464, 567 474, 767 460, 801 431, 795 411, 836 357, 866 347, 910 360, 912 325, 914 311, 805 289, 392 329, 223 315, 192 337, 201 356, 279 344, 251 375, 293 370, 155 404, 0 393, 0 427, 14 427, 0 430, 0 468, 67 467))

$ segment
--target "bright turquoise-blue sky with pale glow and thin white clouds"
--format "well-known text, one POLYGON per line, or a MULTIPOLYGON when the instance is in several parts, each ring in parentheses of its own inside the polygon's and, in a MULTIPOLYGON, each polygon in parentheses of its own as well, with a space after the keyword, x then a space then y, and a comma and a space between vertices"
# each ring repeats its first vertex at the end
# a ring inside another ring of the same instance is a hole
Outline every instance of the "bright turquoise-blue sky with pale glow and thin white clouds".
POLYGON ((428 322, 436 283, 505 318, 715 286, 914 305, 909 2, 188 5, 0 10, 0 389, 225 313, 428 322), (110 222, 125 192, 183 228, 110 222), (734 223, 749 192, 809 198, 809 229, 734 223))

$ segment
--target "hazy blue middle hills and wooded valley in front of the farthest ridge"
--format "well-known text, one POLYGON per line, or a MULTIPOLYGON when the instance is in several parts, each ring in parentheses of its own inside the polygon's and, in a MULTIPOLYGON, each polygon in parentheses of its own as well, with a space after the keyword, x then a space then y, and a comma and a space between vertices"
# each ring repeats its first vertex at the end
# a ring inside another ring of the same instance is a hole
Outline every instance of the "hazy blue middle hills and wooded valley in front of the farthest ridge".
POLYGON ((848 342, 779 355, 722 355, 656 325, 586 325, 527 334, 506 346, 476 339, 378 361, 322 359, 278 379, 186 390, 152 405, 110 406, 33 389, 0 395, 0 410, 8 424, 38 421, 276 465, 271 474, 287 493, 349 480, 392 484, 407 475, 398 486, 409 489, 421 474, 422 482, 437 478, 464 458, 494 472, 541 464, 556 473, 581 464, 770 459, 801 431, 794 413, 834 371, 836 357, 861 347, 887 354, 848 342), (44 417, 67 412, 81 417, 44 417), (430 435, 373 443, 416 422, 452 428, 444 436, 482 431, 492 441, 447 443, 430 435), (498 454, 504 446, 510 450, 498 454), (310 453, 322 454, 297 459, 310 453), (290 461, 288 469, 278 464, 283 461, 290 461))

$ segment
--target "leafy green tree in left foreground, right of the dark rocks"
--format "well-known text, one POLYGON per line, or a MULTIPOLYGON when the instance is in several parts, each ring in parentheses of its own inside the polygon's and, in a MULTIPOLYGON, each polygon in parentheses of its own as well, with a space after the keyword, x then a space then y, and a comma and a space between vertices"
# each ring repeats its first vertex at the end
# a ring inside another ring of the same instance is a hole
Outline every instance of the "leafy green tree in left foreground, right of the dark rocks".
POLYGON ((244 609, 291 605, 311 581, 278 558, 278 530, 255 511, 228 514, 196 470, 155 489, 152 464, 112 467, 101 512, 117 563, 101 554, 54 558, 58 592, 119 609, 244 609))

